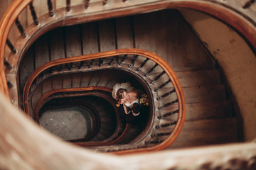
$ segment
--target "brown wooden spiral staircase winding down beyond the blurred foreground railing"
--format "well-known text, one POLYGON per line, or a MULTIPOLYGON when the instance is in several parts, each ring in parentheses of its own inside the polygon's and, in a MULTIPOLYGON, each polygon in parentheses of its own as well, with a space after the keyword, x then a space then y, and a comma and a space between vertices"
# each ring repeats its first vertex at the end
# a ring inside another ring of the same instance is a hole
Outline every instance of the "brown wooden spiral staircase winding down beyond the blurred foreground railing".
MULTIPOLYGON (((203 3, 209 2, 193 8, 203 3)), ((212 8, 221 4, 212 3, 212 8)), ((229 8, 237 5, 227 3, 229 8)), ((253 3, 243 6, 247 18, 254 16, 253 3)), ((189 1, 85 1, 73 6, 65 1, 60 8, 53 1, 41 8, 35 4, 41 2, 14 1, 9 11, 16 15, 5 16, 9 22, 2 26, 8 30, 14 23, 20 34, 1 35, 6 40, 1 47, 9 54, 1 51, 1 89, 41 126, 51 126, 42 123, 48 111, 73 109, 85 118, 87 134, 67 141, 116 154, 242 141, 222 70, 181 14, 166 9, 137 15, 162 6, 190 6, 189 1), (131 6, 137 10, 129 11, 131 6), (24 11, 31 13, 25 27, 20 21, 24 11), (121 120, 111 96, 114 84, 127 81, 149 96, 149 112, 140 125, 121 120)), ((238 30, 255 47, 252 32, 238 30)))

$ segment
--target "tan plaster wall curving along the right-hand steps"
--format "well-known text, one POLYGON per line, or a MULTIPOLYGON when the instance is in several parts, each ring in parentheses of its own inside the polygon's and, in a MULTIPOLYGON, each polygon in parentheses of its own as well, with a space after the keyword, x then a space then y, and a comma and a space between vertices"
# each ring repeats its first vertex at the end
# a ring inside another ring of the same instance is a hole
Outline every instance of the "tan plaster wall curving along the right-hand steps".
POLYGON ((204 13, 182 9, 222 67, 242 115, 245 141, 256 137, 256 56, 238 33, 204 13))

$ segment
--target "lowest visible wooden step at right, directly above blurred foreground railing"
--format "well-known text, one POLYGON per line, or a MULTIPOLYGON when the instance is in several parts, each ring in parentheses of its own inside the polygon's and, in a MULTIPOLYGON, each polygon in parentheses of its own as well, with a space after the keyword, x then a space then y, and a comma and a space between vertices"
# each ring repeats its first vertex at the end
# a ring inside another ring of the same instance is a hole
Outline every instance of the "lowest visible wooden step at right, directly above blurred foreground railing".
POLYGON ((184 123, 183 129, 169 149, 238 142, 235 118, 196 120, 184 123))

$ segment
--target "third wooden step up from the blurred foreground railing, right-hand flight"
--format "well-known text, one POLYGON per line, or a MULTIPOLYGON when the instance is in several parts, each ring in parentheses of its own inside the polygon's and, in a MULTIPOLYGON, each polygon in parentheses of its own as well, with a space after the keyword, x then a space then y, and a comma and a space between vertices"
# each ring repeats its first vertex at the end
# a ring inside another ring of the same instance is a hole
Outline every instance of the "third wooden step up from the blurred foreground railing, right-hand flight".
POLYGON ((225 86, 223 84, 211 86, 183 87, 186 103, 200 103, 210 101, 225 101, 225 86))

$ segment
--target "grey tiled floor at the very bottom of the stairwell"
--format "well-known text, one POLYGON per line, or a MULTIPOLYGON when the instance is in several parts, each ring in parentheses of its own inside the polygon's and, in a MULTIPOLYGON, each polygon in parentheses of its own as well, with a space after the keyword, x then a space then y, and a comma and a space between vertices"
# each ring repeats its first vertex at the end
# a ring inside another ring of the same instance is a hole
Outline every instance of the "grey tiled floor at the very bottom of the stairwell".
POLYGON ((41 127, 61 137, 63 140, 76 140, 85 137, 87 123, 79 111, 56 109, 46 111, 39 120, 41 127))

